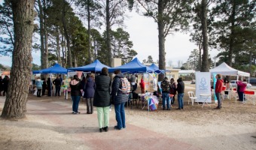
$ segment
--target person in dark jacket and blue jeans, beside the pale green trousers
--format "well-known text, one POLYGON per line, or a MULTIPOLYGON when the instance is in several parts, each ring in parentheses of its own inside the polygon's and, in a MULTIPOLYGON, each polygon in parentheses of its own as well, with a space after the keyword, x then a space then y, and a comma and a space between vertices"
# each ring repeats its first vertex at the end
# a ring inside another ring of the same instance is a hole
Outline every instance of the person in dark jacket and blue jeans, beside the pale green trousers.
POLYGON ((117 125, 114 126, 114 129, 121 130, 126 127, 125 124, 125 112, 124 104, 128 101, 128 95, 123 94, 120 91, 122 86, 121 78, 123 74, 120 70, 114 71, 115 77, 112 83, 111 98, 114 103, 115 118, 117 120, 117 125))

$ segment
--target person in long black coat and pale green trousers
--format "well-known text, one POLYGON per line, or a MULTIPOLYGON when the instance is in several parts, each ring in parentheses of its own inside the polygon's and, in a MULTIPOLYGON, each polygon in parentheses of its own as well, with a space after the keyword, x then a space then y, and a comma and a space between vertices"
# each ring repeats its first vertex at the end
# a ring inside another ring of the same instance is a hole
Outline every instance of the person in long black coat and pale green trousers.
POLYGON ((97 109, 99 132, 108 132, 111 78, 108 77, 108 68, 102 68, 101 74, 95 78, 96 89, 93 97, 93 106, 97 109))

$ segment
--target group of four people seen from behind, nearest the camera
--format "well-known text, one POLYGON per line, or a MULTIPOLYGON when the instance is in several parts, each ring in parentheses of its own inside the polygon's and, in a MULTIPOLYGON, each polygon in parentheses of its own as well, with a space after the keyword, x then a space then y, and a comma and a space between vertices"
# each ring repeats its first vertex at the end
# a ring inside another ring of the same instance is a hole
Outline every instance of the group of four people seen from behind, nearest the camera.
MULTIPOLYGON (((122 86, 121 78, 124 78, 120 70, 114 71, 114 78, 108 76, 108 68, 102 68, 99 75, 93 79, 93 76, 87 74, 83 80, 79 80, 75 75, 70 82, 71 97, 72 97, 72 113, 78 114, 78 105, 83 95, 87 101, 87 114, 93 114, 93 107, 96 107, 97 118, 99 123, 99 132, 103 130, 108 132, 109 127, 109 112, 111 104, 114 104, 114 111, 116 114, 117 125, 114 126, 116 130, 126 128, 124 105, 128 101, 128 95, 120 91, 122 86)), ((132 80, 133 87, 136 86, 136 78, 132 80)))

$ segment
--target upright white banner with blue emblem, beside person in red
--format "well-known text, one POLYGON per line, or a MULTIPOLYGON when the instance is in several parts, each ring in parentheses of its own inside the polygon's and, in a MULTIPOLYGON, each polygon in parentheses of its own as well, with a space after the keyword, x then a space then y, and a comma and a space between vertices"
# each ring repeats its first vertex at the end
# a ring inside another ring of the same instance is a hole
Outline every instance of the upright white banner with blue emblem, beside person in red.
POLYGON ((212 103, 211 73, 196 72, 196 102, 212 103))

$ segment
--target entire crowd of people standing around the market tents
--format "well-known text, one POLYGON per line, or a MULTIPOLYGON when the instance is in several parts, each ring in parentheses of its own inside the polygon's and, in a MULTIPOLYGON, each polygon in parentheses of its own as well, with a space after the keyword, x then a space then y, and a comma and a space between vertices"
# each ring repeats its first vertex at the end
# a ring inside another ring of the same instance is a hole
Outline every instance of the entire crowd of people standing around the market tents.
MULTIPOLYGON (((125 118, 125 104, 129 99, 127 93, 123 93, 120 89, 122 88, 122 80, 124 75, 120 70, 114 71, 114 78, 108 76, 108 68, 102 68, 102 71, 94 79, 92 74, 86 74, 86 77, 83 77, 82 80, 78 78, 78 75, 75 75, 69 83, 71 88, 71 98, 72 98, 72 113, 79 114, 78 106, 81 100, 81 97, 84 98, 87 104, 87 114, 93 114, 93 107, 96 107, 97 118, 99 123, 99 132, 103 130, 108 131, 109 127, 109 112, 111 110, 111 104, 114 105, 115 118, 117 124, 114 126, 116 130, 122 130, 126 128, 126 118, 125 118)), ((132 92, 135 92, 138 84, 138 76, 135 74, 131 77, 127 77, 130 86, 132 87, 132 92)), ((221 109, 221 92, 223 92, 223 86, 226 90, 229 91, 232 89, 229 80, 226 78, 222 80, 221 74, 215 76, 217 82, 215 84, 215 96, 218 100, 218 107, 216 109, 221 109)), ((5 76, 4 79, 0 77, 0 96, 5 96, 8 90, 8 81, 9 77, 5 76)), ((62 86, 62 77, 61 75, 57 76, 53 82, 50 78, 41 80, 40 77, 35 80, 35 86, 37 88, 37 96, 47 95, 51 96, 52 86, 55 86, 55 96, 60 96, 60 88, 62 86)), ((143 77, 139 83, 142 94, 145 93, 145 82, 143 77)), ((237 82, 237 93, 239 95, 239 101, 243 100, 243 94, 245 92, 247 83, 246 80, 237 82)), ((184 108, 184 82, 182 78, 178 78, 177 83, 173 78, 168 80, 168 77, 164 77, 163 81, 160 84, 160 89, 162 89, 162 100, 163 100, 163 110, 171 110, 171 105, 175 102, 175 95, 178 95, 178 108, 177 110, 182 110, 184 108), (169 98, 169 95, 173 95, 172 99, 169 98), (170 101, 172 100, 172 101, 170 101)))

